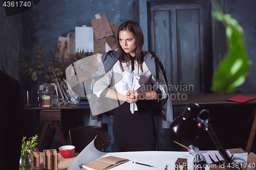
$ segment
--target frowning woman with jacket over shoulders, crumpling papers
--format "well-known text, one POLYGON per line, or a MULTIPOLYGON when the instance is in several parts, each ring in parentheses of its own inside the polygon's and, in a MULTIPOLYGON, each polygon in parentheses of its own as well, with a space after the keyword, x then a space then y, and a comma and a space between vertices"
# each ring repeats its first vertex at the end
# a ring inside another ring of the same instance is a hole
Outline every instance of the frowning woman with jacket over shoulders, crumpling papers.
POLYGON ((142 51, 143 43, 144 36, 139 24, 132 20, 123 22, 117 32, 118 51, 102 56, 101 61, 106 75, 96 81, 93 87, 93 93, 98 98, 105 97, 124 102, 113 109, 113 135, 119 152, 156 150, 156 109, 160 108, 160 115, 165 123, 166 117, 169 119, 168 122, 173 118, 162 61, 157 55, 142 51), (140 87, 124 92, 120 88, 121 81, 114 85, 114 89, 108 88, 113 73, 122 74, 124 71, 129 74, 134 71, 135 76, 139 78, 140 87), (131 103, 136 103, 138 107, 134 114, 130 110, 131 103))

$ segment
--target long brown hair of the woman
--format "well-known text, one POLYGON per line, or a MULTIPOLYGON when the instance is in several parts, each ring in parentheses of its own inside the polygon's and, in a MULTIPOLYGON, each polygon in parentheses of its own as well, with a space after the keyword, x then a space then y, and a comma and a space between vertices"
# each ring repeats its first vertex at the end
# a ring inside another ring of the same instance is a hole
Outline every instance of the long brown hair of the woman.
POLYGON ((126 20, 118 27, 116 42, 117 42, 119 56, 120 56, 119 60, 123 63, 125 62, 126 65, 129 66, 131 64, 130 54, 125 53, 123 51, 123 48, 121 47, 120 42, 119 42, 119 33, 120 33, 120 31, 123 31, 123 30, 131 31, 134 34, 134 36, 137 38, 137 48, 136 48, 136 52, 135 52, 135 60, 138 62, 138 67, 140 67, 140 69, 143 72, 142 63, 144 60, 143 60, 143 57, 141 56, 141 52, 142 52, 142 46, 144 43, 144 35, 140 28, 140 25, 136 21, 126 20))

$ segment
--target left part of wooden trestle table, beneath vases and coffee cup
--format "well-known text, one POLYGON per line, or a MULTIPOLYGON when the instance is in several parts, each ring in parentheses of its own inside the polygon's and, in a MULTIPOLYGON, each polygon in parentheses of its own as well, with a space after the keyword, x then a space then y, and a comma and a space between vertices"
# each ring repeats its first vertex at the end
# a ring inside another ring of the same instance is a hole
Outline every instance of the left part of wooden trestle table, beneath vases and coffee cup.
POLYGON ((45 138, 48 128, 50 129, 49 135, 46 139, 45 149, 49 148, 50 141, 54 135, 54 130, 56 130, 60 142, 62 145, 67 145, 63 134, 60 130, 58 121, 61 120, 61 110, 63 109, 90 109, 90 106, 65 106, 65 107, 25 107, 25 110, 40 110, 40 120, 45 120, 45 125, 42 128, 41 134, 39 135, 38 144, 36 148, 40 150, 42 141, 45 138))

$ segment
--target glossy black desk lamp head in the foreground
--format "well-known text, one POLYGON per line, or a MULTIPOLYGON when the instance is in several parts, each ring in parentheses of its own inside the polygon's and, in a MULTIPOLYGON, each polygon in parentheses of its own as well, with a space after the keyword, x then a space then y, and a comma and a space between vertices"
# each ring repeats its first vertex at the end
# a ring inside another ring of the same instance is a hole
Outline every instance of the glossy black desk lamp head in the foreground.
POLYGON ((184 139, 198 138, 199 128, 196 119, 199 112, 199 105, 190 103, 186 106, 183 114, 173 120, 173 123, 170 124, 170 129, 172 129, 174 134, 184 139))

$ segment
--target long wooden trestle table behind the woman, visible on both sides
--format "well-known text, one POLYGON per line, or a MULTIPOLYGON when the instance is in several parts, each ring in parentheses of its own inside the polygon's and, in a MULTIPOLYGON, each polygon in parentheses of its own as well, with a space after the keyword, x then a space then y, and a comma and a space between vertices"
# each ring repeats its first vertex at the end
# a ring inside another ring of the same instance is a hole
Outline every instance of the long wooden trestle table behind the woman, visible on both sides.
MULTIPOLYGON (((232 137, 231 141, 236 141, 236 138, 242 134, 243 130, 245 129, 246 125, 250 122, 250 120, 254 117, 253 124, 251 127, 251 132, 249 135, 249 139, 246 146, 246 152, 250 152, 251 145, 253 142, 253 138, 256 131, 256 100, 249 101, 246 103, 238 103, 238 102, 232 102, 227 99, 232 98, 237 95, 245 95, 245 96, 251 96, 256 97, 256 93, 212 93, 212 94, 186 94, 186 100, 172 100, 173 106, 186 106, 189 103, 197 103, 200 106, 203 105, 255 105, 255 109, 250 114, 248 119, 246 120, 246 123, 240 128, 237 126, 238 133, 236 136, 232 137), (240 129, 240 130, 239 130, 240 129)), ((181 95, 179 96, 179 99, 181 99, 181 95)), ((183 99, 185 99, 185 95, 183 95, 183 99)), ((40 110, 40 120, 46 120, 44 128, 42 129, 42 132, 38 139, 38 145, 37 148, 40 149, 42 140, 45 137, 46 131, 48 129, 48 126, 54 127, 58 133, 58 136, 60 138, 61 144, 65 145, 66 141, 63 138, 63 135, 59 129, 58 122, 60 120, 60 114, 61 110, 63 109, 89 109, 90 106, 73 106, 73 107, 25 107, 25 110, 40 110), (55 113, 55 114, 53 114, 55 113)), ((54 128, 51 128, 51 132, 48 135, 48 139, 46 144, 49 144, 50 137, 53 135, 54 128), (50 137, 49 137, 50 136, 50 137)))

